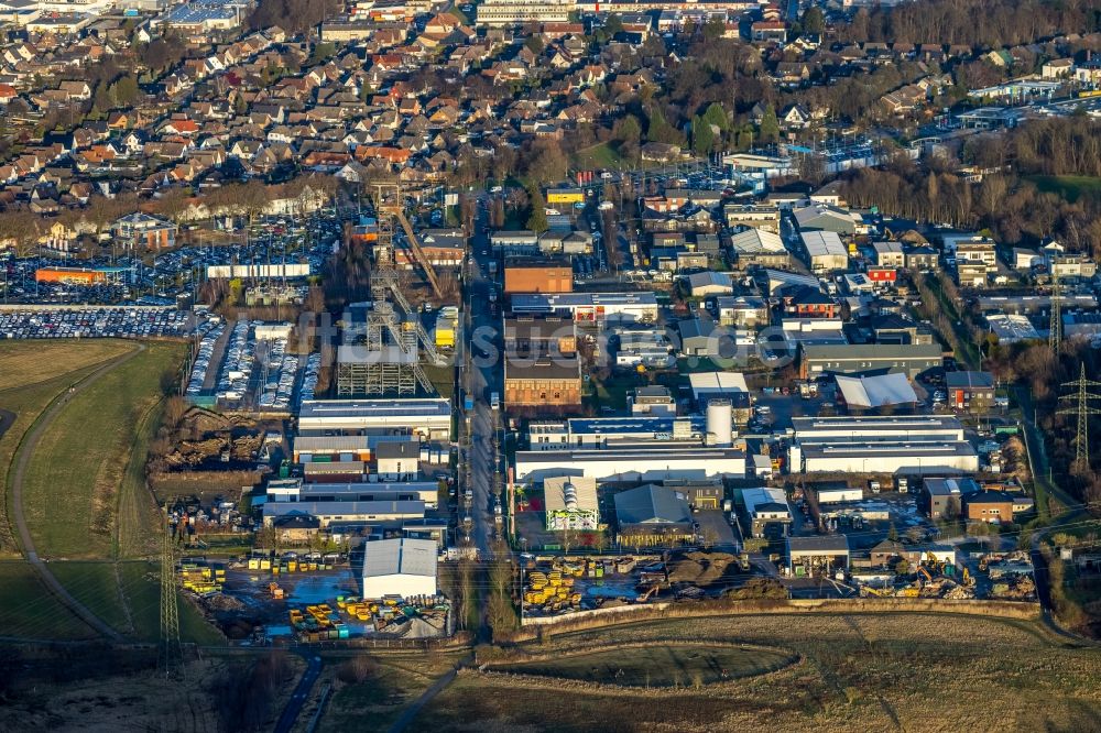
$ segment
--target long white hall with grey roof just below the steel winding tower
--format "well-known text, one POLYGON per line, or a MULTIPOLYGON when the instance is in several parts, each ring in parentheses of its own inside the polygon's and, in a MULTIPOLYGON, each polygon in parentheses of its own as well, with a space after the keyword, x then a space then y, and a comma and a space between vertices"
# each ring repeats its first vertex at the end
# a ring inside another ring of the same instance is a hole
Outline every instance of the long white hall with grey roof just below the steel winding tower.
POLYGON ((449 439, 451 404, 443 397, 307 400, 298 413, 298 435, 418 435, 449 439))

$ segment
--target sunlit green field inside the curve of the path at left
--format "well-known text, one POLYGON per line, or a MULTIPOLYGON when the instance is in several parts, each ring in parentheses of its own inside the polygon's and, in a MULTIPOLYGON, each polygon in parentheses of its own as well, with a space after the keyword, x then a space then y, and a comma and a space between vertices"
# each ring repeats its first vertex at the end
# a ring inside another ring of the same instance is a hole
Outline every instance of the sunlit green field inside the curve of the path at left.
POLYGON ((134 485, 155 428, 150 413, 161 401, 163 375, 174 373, 182 357, 182 346, 149 344, 77 393, 42 435, 23 491, 41 556, 111 558, 120 537, 140 546, 134 538, 152 521, 149 503, 141 503, 143 485, 134 485), (129 496, 139 489, 140 496, 129 496))

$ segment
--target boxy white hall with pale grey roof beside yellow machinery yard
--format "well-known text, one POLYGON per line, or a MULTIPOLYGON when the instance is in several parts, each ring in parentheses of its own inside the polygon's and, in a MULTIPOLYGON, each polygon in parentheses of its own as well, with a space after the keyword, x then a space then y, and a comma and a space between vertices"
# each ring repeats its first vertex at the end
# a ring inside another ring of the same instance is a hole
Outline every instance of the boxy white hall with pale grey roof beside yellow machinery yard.
POLYGON ((363 544, 363 598, 435 595, 436 543, 430 539, 377 539, 363 544))

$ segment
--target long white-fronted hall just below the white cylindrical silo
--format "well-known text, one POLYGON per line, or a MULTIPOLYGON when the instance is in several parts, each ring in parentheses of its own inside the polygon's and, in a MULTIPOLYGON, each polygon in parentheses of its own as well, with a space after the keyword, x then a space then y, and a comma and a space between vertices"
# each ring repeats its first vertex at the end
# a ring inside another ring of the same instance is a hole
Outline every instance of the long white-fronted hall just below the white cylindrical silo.
POLYGON ((521 450, 516 480, 582 475, 597 481, 663 481, 745 475, 745 451, 737 448, 657 445, 604 450, 521 450))

